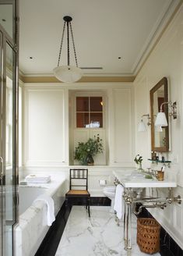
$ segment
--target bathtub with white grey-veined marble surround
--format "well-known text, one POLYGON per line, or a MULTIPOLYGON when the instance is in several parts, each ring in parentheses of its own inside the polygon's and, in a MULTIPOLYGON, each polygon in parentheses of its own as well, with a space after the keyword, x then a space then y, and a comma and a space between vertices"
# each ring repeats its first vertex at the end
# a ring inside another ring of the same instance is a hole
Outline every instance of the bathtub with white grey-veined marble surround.
POLYGON ((16 256, 33 256, 48 232, 47 205, 34 201, 48 194, 55 202, 55 216, 65 201, 65 177, 51 177, 51 183, 19 186, 19 223, 15 227, 16 256))

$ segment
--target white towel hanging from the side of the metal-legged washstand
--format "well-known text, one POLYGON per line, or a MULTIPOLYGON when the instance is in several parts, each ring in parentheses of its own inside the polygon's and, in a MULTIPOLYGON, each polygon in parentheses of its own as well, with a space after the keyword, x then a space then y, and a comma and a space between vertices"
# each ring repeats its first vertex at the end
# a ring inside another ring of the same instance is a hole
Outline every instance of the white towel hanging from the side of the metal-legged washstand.
POLYGON ((121 219, 123 214, 123 198, 122 194, 124 191, 124 187, 121 186, 121 184, 118 184, 116 187, 116 193, 114 197, 114 211, 116 212, 116 215, 118 219, 121 219))

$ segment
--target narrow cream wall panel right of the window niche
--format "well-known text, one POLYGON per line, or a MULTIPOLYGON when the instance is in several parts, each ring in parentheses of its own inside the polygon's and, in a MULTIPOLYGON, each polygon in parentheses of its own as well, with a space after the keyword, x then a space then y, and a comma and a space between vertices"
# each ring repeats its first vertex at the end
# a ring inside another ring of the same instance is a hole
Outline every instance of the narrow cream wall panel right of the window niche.
POLYGON ((132 91, 113 89, 113 164, 132 165, 132 91))

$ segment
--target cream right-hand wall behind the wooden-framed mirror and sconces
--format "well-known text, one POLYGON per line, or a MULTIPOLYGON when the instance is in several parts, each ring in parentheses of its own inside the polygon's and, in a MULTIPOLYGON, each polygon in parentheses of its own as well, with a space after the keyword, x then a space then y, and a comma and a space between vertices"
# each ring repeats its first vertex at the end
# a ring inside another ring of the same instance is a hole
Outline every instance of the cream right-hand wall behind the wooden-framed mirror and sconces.
MULTIPOLYGON (((164 76, 168 79, 169 99, 177 101, 178 105, 178 119, 170 119, 171 151, 165 156, 172 160, 169 171, 174 176, 178 172, 179 186, 174 190, 174 195, 180 194, 183 198, 183 6, 135 79, 136 127, 140 116, 150 113, 150 89, 164 76)), ((135 132, 135 152, 144 158, 150 157, 150 128, 146 133, 135 132)), ((150 163, 146 162, 146 165, 150 163)), ((161 193, 165 195, 167 190, 161 193)), ((164 211, 154 209, 150 212, 183 248, 183 203, 168 205, 164 211)))

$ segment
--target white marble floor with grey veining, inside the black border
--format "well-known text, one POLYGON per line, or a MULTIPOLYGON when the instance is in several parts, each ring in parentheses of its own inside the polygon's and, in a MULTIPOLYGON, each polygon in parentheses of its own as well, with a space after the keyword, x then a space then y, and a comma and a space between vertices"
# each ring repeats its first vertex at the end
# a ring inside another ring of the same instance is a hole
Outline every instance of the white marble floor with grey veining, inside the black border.
MULTIPOLYGON (((114 214, 107 206, 91 206, 88 218, 84 206, 73 206, 65 226, 56 256, 114 256, 127 255, 122 240, 123 226, 116 225, 114 214)), ((131 255, 148 255, 139 251, 135 244, 136 218, 132 218, 131 255)), ((153 254, 160 255, 159 253, 153 254)))

